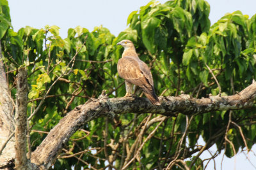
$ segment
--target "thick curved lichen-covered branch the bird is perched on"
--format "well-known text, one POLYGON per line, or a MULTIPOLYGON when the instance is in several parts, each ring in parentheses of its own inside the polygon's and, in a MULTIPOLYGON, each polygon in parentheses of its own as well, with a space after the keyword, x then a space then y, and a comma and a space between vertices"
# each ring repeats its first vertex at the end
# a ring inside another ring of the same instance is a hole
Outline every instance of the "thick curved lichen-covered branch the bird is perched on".
POLYGON ((179 97, 159 97, 160 106, 154 106, 148 99, 140 97, 121 97, 109 99, 104 93, 98 99, 77 106, 62 118, 52 129, 41 145, 31 155, 31 162, 40 169, 49 169, 62 146, 84 124, 99 117, 113 117, 120 113, 159 113, 173 116, 177 113, 194 115, 218 110, 242 110, 253 106, 256 96, 256 83, 253 83, 234 96, 210 96, 195 99, 188 95, 179 97))

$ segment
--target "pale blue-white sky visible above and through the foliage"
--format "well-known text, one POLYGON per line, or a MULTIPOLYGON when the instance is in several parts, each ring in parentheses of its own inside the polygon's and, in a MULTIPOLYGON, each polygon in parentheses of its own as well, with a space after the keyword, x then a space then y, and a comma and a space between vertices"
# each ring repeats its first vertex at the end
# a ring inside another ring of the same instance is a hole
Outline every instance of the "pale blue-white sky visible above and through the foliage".
MULTIPOLYGON (((29 25, 40 29, 45 25, 57 25, 60 27, 60 36, 67 37, 68 28, 77 25, 93 31, 95 26, 102 25, 109 31, 118 34, 127 28, 127 17, 132 11, 139 10, 149 0, 9 0, 10 15, 14 31, 29 25)), ((166 1, 160 0, 160 3, 166 1)), ((256 14, 256 0, 208 0, 211 6, 210 20, 214 24, 225 13, 232 13, 236 10, 242 11, 244 15, 252 17, 256 14)), ((200 139, 203 145, 204 141, 200 139)), ((214 153, 216 148, 210 148, 214 153)), ((238 153, 232 159, 224 157, 222 169, 255 169, 256 166, 256 146, 253 147, 254 153, 250 153, 250 161, 243 153, 238 153), (250 162, 253 163, 254 167, 250 162)), ((223 152, 222 152, 223 153, 223 152)), ((222 155, 216 158, 216 169, 221 169, 222 155)), ((203 153, 203 159, 209 157, 209 153, 203 153)), ((248 157, 248 155, 247 155, 248 157)), ((207 169, 214 169, 211 161, 207 169)))

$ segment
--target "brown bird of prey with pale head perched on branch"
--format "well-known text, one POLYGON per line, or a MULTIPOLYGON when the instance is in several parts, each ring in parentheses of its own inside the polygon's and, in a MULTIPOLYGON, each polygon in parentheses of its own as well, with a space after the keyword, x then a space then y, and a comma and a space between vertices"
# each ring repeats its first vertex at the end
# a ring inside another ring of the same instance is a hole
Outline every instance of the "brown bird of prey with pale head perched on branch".
POLYGON ((139 59, 132 41, 124 39, 117 45, 124 47, 122 58, 117 63, 117 71, 119 76, 125 80, 125 97, 132 96, 132 84, 134 84, 143 90, 152 104, 160 105, 150 69, 145 62, 139 59))

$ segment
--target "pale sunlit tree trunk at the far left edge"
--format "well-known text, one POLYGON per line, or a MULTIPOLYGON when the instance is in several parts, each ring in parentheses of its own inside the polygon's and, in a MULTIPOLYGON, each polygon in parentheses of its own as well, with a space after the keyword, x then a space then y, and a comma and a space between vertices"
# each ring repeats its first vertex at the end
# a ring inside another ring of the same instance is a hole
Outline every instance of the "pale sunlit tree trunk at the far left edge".
POLYGON ((0 168, 13 166, 13 160, 15 158, 15 141, 14 137, 8 137, 15 129, 14 126, 14 108, 12 99, 10 98, 10 92, 8 89, 8 83, 3 65, 3 57, 1 52, 0 42, 0 168), (6 143, 8 141, 8 143, 6 143))

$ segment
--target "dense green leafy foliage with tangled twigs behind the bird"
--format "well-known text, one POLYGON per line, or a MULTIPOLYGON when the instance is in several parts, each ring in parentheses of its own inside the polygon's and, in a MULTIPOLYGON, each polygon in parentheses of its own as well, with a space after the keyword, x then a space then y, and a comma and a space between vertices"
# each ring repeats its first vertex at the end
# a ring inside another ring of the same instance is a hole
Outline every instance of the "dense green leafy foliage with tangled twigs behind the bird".
MULTIPOLYGON (((127 19, 129 28, 117 37, 101 26, 92 32, 77 26, 68 29, 67 38, 61 38, 56 25, 13 31, 8 2, 1 0, 1 47, 13 99, 17 69, 28 70, 32 150, 68 111, 97 98, 102 90, 109 97, 124 96, 124 80, 116 72, 122 55, 116 43, 122 39, 131 39, 140 59, 151 67, 158 96, 178 96, 181 91, 193 97, 227 96, 250 85, 256 76, 256 15, 249 18, 234 11, 211 25, 209 11, 204 0, 150 1, 132 11, 127 19)), ((93 120, 67 142, 54 169, 74 165, 76 169, 107 165, 119 169, 141 145, 140 156, 130 169, 164 168, 175 157, 186 159, 193 169, 203 169, 203 160, 195 157, 202 149, 197 145, 200 136, 206 143, 204 150, 214 144, 218 148, 211 159, 221 150, 232 157, 239 148, 250 150, 255 144, 253 110, 191 115, 165 118, 159 127, 164 116, 157 114, 93 120), (143 143, 154 129, 154 136, 143 143)), ((184 164, 176 162, 173 169, 179 166, 184 164)))

